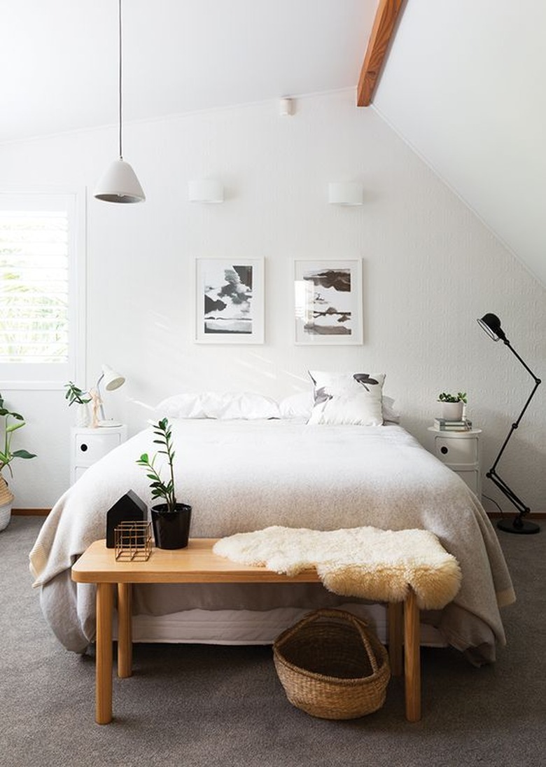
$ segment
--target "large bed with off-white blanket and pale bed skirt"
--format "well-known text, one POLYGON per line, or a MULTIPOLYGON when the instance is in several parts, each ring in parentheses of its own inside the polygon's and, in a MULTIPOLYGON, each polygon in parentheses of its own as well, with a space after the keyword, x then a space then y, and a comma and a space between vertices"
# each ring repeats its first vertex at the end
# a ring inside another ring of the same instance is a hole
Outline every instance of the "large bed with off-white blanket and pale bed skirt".
MULTIPOLYGON (((379 378, 357 385, 370 393, 379 378)), ((314 379, 311 415, 301 397, 279 406, 246 393, 184 394, 161 404, 176 446, 178 499, 192 505, 192 537, 270 525, 428 529, 459 561, 462 587, 442 611, 423 611, 423 640, 452 645, 472 663, 492 662, 496 645, 505 644, 500 607, 515 596, 478 499, 394 423, 392 401, 380 390, 359 422, 354 403, 334 401, 323 383, 314 379), (325 403, 335 406, 326 416, 325 403)), ((71 565, 106 537, 107 511, 128 490, 150 504, 149 480, 136 459, 153 449, 148 426, 90 466, 54 505, 32 548, 44 617, 68 650, 84 652, 95 634, 94 587, 74 584, 71 565)), ((143 584, 135 587, 134 639, 266 643, 319 606, 352 609, 384 632, 382 607, 331 594, 321 584, 143 584)))

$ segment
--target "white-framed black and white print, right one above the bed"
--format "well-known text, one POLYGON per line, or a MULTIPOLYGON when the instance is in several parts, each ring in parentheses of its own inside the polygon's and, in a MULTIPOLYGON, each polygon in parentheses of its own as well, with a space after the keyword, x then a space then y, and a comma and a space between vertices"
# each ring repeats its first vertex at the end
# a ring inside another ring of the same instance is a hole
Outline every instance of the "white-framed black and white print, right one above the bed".
POLYGON ((362 344, 362 262, 294 261, 296 344, 362 344))

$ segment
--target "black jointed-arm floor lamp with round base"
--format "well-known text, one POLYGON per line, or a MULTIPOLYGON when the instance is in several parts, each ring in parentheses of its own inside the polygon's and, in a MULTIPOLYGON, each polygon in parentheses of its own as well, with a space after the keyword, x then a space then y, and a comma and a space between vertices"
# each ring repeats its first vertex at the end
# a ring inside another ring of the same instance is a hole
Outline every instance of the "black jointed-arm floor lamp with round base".
POLYGON ((525 370, 533 377, 534 380, 534 387, 531 393, 529 394, 528 400, 523 406, 523 410, 521 410, 521 413, 518 416, 518 420, 515 423, 512 423, 510 427, 510 431, 508 432, 508 436, 506 437, 504 443, 502 443, 502 448, 498 451, 498 456, 495 458, 495 463, 489 469, 488 472, 486 472, 485 476, 488 477, 488 479, 491 479, 492 482, 495 483, 495 485, 498 487, 499 490, 504 492, 508 500, 515 505, 515 508, 518 509, 518 516, 513 519, 512 522, 505 522, 504 520, 501 520, 500 522, 497 522, 497 527, 501 530, 504 530, 505 532, 517 532, 517 533, 524 533, 527 535, 531 535, 532 533, 539 532, 540 527, 539 525, 535 525, 534 522, 527 522, 524 520, 524 515, 528 514, 531 509, 529 509, 528 506, 525 505, 525 503, 518 498, 518 495, 515 494, 515 492, 508 487, 506 482, 501 479, 501 477, 497 474, 497 464, 499 460, 501 459, 502 453, 505 452, 505 447, 508 445, 508 440, 512 436, 512 434, 515 432, 515 430, 519 426, 519 422, 521 421, 521 418, 523 417, 523 414, 525 413, 525 410, 527 410, 528 404, 531 402, 534 392, 538 389, 538 387, 541 384, 540 378, 537 378, 532 370, 528 367, 528 365, 525 364, 525 362, 521 359, 519 354, 514 351, 514 349, 511 347, 510 341, 508 341, 508 338, 505 336, 504 331, 501 328, 501 321, 498 319, 496 314, 484 314, 481 320, 478 320, 479 324, 482 326, 482 328, 485 330, 485 332, 488 334, 488 336, 492 337, 493 341, 498 341, 499 339, 503 341, 505 346, 508 347, 508 349, 511 351, 512 354, 515 355, 515 357, 518 357, 518 360, 521 362, 523 367, 525 367, 525 370))

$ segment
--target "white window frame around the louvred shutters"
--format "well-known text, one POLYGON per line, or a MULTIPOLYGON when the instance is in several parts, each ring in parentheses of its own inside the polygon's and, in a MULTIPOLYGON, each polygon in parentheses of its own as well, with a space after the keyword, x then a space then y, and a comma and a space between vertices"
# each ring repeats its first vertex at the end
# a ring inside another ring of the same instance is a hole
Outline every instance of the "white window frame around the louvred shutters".
POLYGON ((52 187, 0 189, 0 210, 68 211, 68 360, 66 363, 0 362, 0 391, 60 390, 85 380, 86 192, 52 187))

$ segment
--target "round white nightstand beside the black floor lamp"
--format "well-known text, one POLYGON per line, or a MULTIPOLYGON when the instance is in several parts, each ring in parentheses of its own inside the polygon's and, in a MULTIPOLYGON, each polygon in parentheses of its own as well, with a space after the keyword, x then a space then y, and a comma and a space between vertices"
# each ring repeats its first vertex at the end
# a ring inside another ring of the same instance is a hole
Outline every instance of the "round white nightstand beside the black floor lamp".
POLYGON ((482 499, 482 471, 479 435, 481 429, 466 432, 439 431, 429 426, 434 437, 433 453, 442 463, 457 472, 461 479, 482 499))

